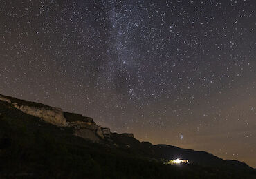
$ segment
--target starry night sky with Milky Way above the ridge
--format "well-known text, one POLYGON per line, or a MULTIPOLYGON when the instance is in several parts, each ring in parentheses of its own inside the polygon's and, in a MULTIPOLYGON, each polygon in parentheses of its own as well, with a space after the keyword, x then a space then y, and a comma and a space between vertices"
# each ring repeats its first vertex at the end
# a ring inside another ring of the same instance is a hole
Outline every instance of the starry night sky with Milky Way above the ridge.
POLYGON ((256 167, 256 1, 0 1, 0 94, 256 167))

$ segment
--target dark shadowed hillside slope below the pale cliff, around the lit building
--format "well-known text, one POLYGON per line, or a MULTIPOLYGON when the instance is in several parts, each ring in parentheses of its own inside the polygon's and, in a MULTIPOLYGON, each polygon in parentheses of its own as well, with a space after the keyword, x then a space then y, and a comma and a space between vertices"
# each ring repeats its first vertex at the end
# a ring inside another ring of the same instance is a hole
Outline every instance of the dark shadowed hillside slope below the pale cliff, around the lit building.
POLYGON ((93 143, 73 133, 0 100, 0 178, 256 178, 248 165, 206 152, 116 133, 93 143), (178 156, 191 163, 163 164, 178 156))

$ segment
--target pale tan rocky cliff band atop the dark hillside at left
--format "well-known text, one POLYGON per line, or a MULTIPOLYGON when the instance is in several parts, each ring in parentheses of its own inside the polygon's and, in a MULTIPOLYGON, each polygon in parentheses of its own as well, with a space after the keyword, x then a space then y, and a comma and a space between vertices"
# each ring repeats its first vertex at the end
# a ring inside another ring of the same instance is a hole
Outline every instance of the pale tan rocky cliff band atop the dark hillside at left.
MULTIPOLYGON (((3 96, 0 94, 0 100, 6 101, 12 107, 19 109, 21 112, 36 116, 58 127, 71 127, 73 134, 92 140, 93 142, 101 142, 102 140, 110 140, 111 131, 107 127, 100 127, 92 118, 64 112, 59 107, 50 107, 40 103, 22 101, 17 98, 3 96)), ((133 134, 120 134, 121 136, 134 137, 133 134)))

